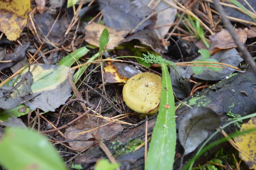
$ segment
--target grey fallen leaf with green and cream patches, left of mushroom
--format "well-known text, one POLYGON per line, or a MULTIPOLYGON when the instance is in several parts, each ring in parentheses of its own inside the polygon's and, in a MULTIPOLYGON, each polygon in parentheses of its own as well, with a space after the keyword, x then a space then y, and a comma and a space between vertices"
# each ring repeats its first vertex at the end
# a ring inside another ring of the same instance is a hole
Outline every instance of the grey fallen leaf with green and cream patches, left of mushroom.
MULTIPOLYGON (((71 86, 68 78, 69 69, 64 65, 32 65, 30 68, 33 75, 31 89, 33 95, 40 95, 26 102, 25 105, 32 110, 39 108, 44 112, 54 112, 55 108, 65 104, 71 96, 71 86)), ((71 70, 71 74, 73 75, 73 70, 71 70)))

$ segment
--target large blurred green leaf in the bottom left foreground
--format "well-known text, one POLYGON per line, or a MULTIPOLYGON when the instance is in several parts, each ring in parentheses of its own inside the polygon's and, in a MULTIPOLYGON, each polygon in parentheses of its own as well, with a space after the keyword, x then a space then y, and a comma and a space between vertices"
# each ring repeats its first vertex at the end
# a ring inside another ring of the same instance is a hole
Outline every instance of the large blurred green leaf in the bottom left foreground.
POLYGON ((49 141, 32 130, 8 128, 0 150, 0 164, 8 170, 67 170, 49 141))

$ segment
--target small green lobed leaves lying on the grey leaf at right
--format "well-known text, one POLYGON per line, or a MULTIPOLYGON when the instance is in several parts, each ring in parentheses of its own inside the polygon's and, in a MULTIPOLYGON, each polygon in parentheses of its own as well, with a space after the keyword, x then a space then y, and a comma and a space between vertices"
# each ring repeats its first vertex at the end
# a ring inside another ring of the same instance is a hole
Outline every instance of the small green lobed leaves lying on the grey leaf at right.
MULTIPOLYGON (((202 55, 202 58, 200 60, 194 60, 196 61, 204 61, 204 62, 218 62, 217 60, 210 57, 210 53, 207 49, 200 49, 198 52, 202 55)), ((211 66, 219 66, 219 64, 212 64, 212 63, 197 63, 199 65, 209 65, 207 66, 209 69, 212 69, 213 71, 221 71, 222 68, 219 67, 211 67, 211 66)), ((201 66, 192 66, 192 70, 195 74, 200 74, 204 71, 204 67, 201 66)))

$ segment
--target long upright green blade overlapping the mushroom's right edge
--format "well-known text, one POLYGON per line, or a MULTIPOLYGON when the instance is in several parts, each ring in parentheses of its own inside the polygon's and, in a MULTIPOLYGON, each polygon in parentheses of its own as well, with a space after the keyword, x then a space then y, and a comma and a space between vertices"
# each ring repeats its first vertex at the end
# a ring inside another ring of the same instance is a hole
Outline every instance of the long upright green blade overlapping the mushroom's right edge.
POLYGON ((163 87, 156 125, 148 151, 145 170, 172 170, 176 146, 175 103, 171 78, 165 63, 161 64, 163 87))

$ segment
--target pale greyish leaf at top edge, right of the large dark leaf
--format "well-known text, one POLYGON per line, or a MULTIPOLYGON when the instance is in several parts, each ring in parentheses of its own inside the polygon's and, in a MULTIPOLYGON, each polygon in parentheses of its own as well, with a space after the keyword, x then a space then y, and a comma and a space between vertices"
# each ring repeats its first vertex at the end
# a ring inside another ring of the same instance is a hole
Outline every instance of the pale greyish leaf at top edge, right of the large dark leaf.
MULTIPOLYGON (((149 4, 150 1, 151 0, 142 0, 144 4, 149 4)), ((170 3, 176 4, 174 0, 167 0, 167 1, 169 1, 170 3)), ((165 2, 161 1, 158 4, 152 3, 152 5, 150 6, 151 9, 154 7, 155 12, 163 10, 157 13, 157 21, 156 21, 155 27, 159 27, 159 28, 154 29, 159 39, 161 39, 161 37, 165 37, 165 35, 169 32, 177 14, 177 9, 171 8, 171 7, 167 8, 168 6, 166 5, 167 4, 165 2)))

